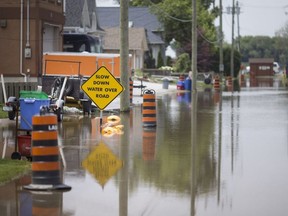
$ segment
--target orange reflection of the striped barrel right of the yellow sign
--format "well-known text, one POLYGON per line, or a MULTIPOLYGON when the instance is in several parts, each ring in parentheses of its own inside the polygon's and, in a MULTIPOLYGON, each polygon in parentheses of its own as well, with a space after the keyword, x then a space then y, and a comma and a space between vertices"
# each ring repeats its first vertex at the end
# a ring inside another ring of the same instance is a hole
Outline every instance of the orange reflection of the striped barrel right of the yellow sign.
POLYGON ((143 160, 155 159, 156 146, 156 128, 144 129, 142 143, 142 158, 143 160))

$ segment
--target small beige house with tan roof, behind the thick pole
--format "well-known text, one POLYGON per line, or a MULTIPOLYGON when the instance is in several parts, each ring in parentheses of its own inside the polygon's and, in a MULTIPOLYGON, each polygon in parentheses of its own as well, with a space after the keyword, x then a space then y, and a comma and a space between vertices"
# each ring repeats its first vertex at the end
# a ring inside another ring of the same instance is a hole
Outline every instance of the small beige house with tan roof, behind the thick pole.
MULTIPOLYGON (((119 27, 105 29, 103 49, 105 53, 119 53, 120 47, 119 27)), ((145 53, 149 51, 146 31, 144 28, 129 28, 129 54, 131 54, 131 67, 141 69, 144 67, 145 53)))

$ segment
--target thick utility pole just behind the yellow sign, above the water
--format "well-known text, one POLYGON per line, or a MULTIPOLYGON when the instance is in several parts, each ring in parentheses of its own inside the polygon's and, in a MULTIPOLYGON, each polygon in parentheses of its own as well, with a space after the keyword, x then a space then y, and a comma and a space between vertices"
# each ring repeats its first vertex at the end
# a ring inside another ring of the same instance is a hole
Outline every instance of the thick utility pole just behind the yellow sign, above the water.
POLYGON ((120 81, 124 91, 120 94, 120 111, 130 110, 129 94, 129 29, 128 29, 129 0, 120 1, 120 81))

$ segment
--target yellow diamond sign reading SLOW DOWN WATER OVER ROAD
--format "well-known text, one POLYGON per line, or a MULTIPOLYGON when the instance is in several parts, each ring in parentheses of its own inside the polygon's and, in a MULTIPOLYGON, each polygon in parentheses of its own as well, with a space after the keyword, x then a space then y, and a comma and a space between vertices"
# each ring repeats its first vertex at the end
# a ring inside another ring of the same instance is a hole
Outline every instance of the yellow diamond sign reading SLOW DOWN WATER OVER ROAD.
POLYGON ((105 109, 124 90, 104 66, 83 83, 81 88, 100 110, 105 109))

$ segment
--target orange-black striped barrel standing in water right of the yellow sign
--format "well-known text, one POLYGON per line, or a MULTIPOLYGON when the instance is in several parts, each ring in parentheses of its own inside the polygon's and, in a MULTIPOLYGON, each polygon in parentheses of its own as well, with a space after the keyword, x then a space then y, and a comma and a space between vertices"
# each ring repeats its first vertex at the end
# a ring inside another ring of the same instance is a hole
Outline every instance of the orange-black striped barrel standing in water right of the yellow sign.
POLYGON ((144 127, 155 127, 156 122, 155 91, 147 89, 143 91, 142 123, 144 127))

